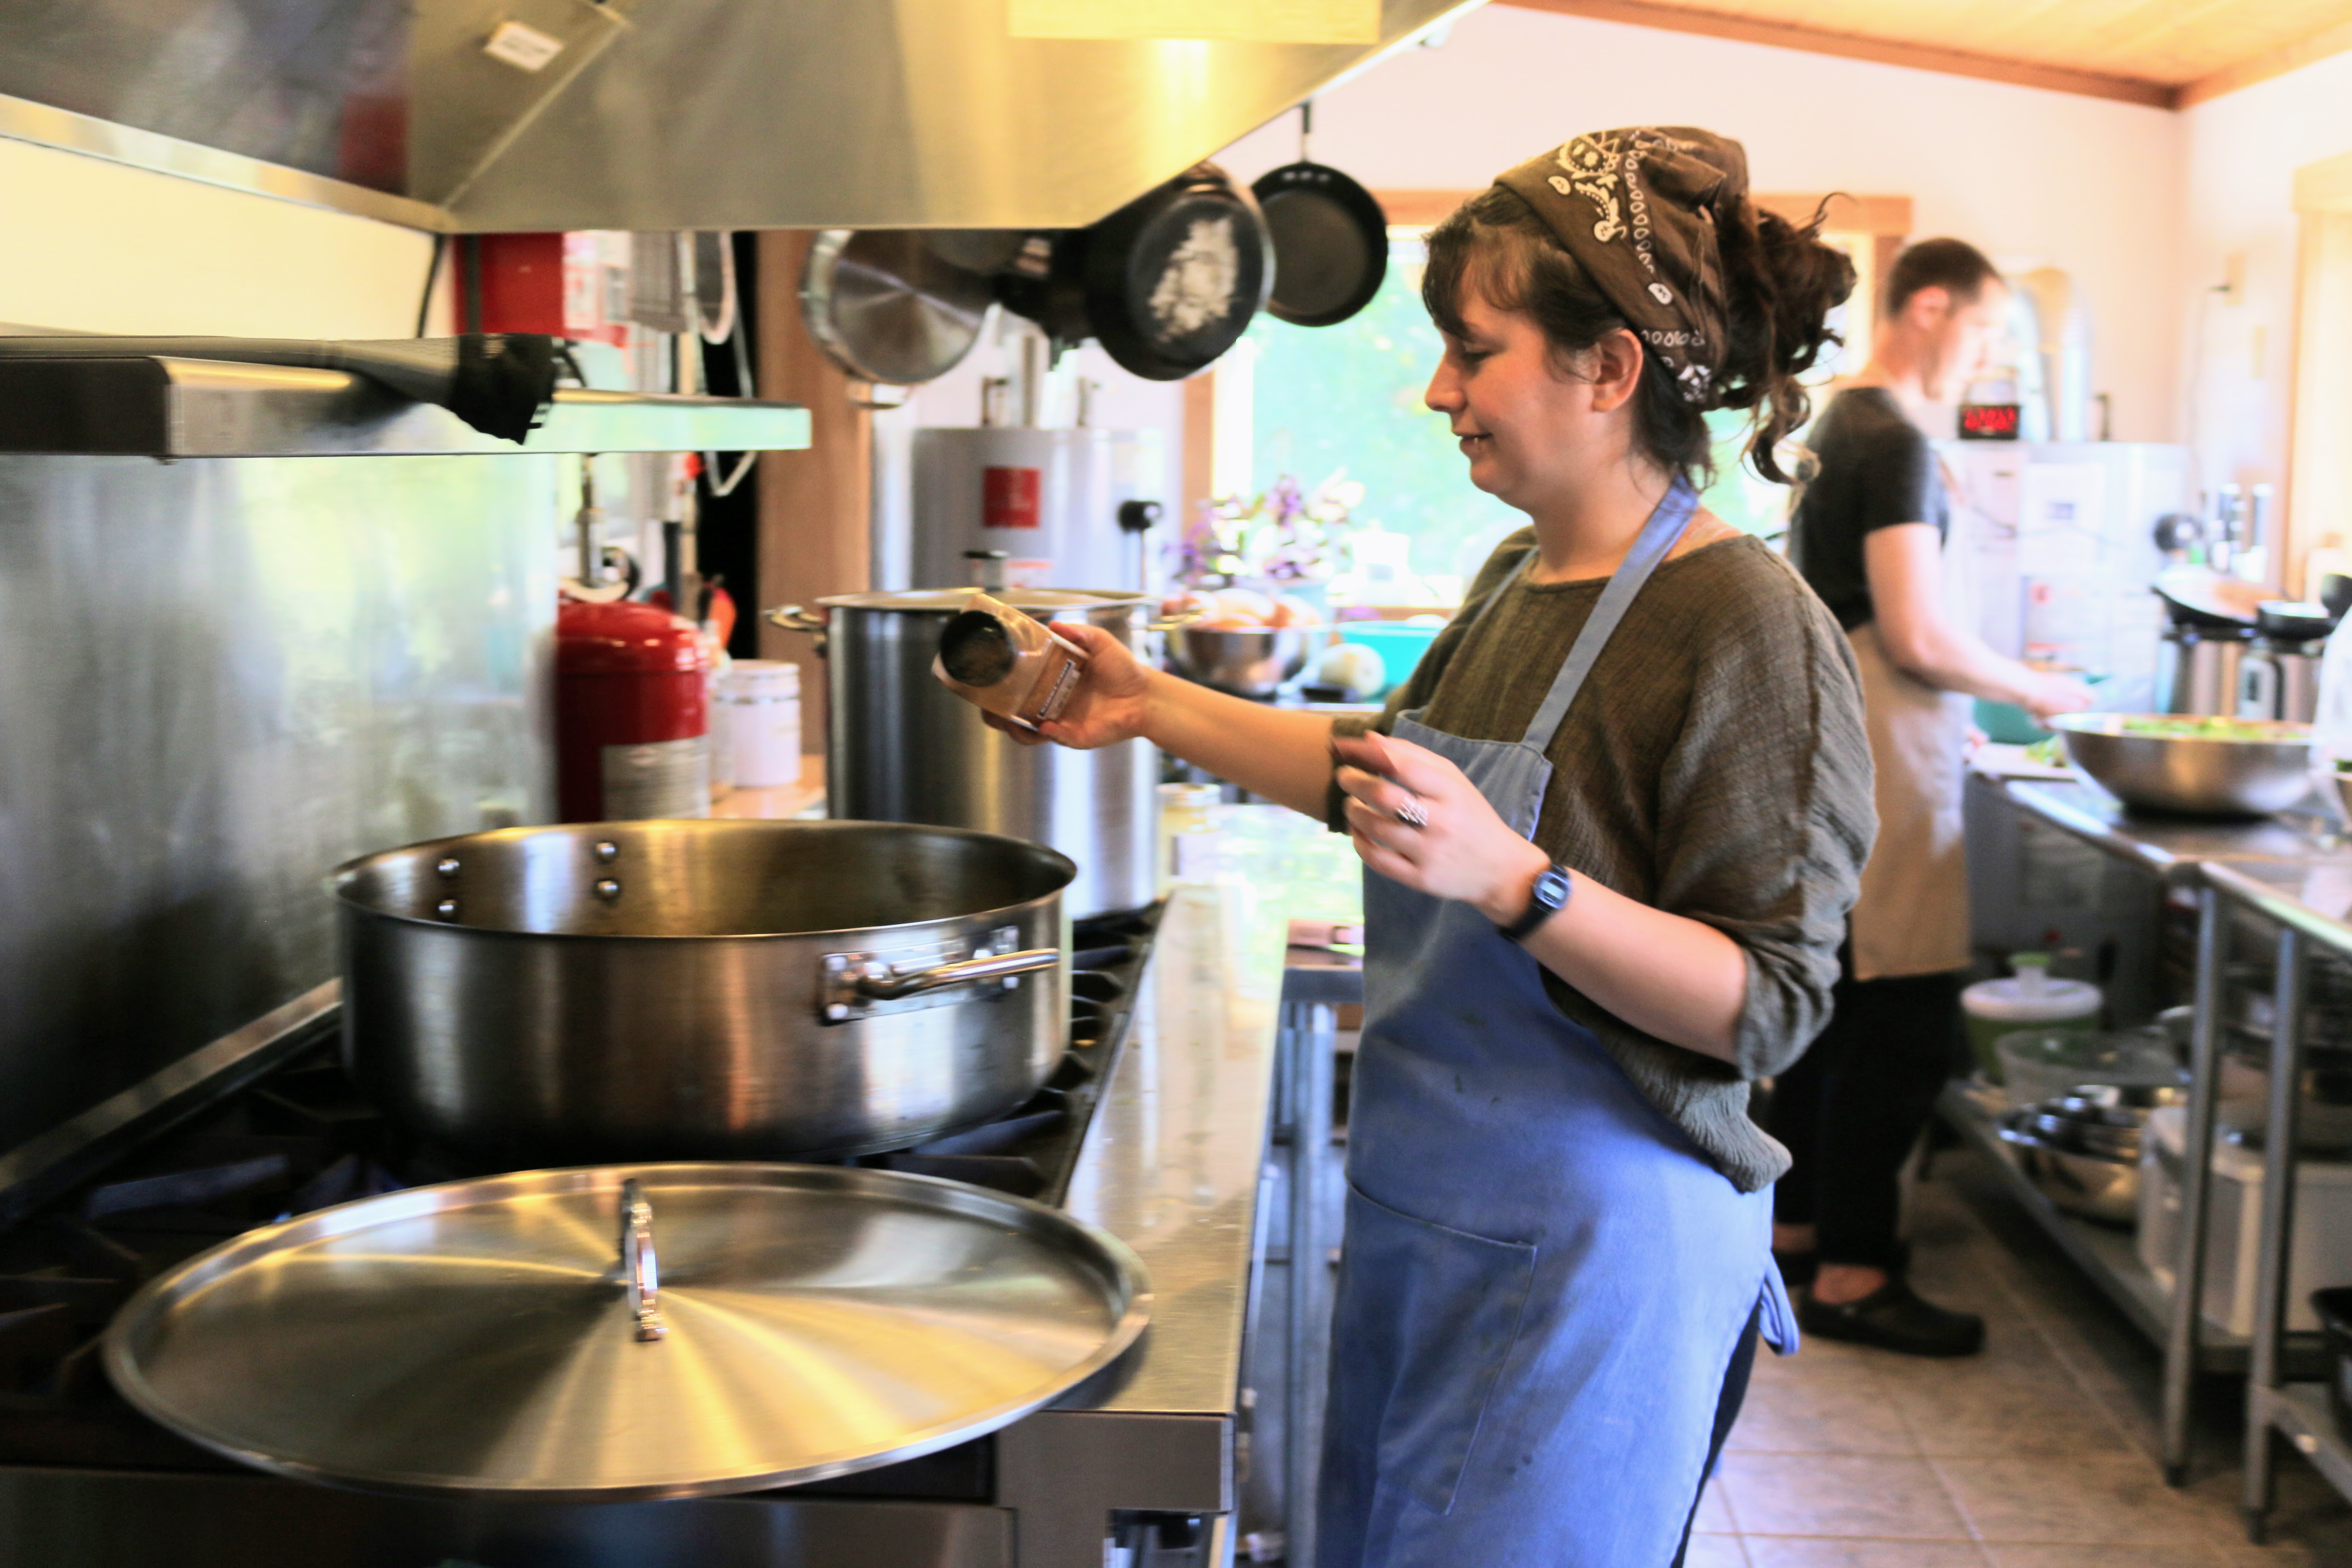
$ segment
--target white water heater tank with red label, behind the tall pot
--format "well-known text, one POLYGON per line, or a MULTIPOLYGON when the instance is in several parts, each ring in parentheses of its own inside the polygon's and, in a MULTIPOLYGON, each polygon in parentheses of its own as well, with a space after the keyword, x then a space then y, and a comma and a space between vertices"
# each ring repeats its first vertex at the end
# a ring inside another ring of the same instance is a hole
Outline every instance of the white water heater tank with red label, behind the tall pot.
POLYGON ((1150 590, 1164 501, 1157 430, 917 430, 913 585, 974 583, 967 550, 1002 550, 1011 588, 1150 590))

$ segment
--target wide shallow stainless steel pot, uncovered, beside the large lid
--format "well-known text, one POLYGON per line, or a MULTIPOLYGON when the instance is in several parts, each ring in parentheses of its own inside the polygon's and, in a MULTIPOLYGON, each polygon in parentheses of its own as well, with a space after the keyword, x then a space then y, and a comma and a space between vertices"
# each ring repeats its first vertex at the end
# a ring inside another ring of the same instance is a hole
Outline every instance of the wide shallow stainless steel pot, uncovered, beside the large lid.
POLYGON ((508 1168, 906 1147, 1061 1060, 1070 875, 896 823, 412 844, 334 875, 343 1051, 395 1121, 508 1168))

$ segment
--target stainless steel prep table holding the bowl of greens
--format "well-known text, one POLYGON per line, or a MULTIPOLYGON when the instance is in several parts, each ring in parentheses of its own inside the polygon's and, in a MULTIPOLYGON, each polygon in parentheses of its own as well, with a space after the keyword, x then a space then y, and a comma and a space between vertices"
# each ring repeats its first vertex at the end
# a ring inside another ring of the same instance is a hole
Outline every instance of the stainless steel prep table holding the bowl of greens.
POLYGON ((2319 818, 2281 813, 2256 820, 2204 820, 2150 816, 2084 783, 2006 780, 2002 792, 2032 818, 2133 865, 2152 879, 2150 922, 2161 900, 2180 889, 2197 898, 2197 1020, 2190 1046, 2190 1105, 2183 1180, 2183 1258, 2166 1291, 2140 1262, 2131 1237, 2060 1213, 2025 1175, 1994 1133, 1992 1112, 1962 1084, 1945 1086, 1945 1119, 1999 1171, 2025 1211, 2098 1284, 2124 1314, 2164 1349, 2161 1460, 2171 1483, 2187 1476, 2190 1389, 2199 1371, 2244 1373, 2249 1342, 2204 1321, 2204 1246, 2213 1121, 2220 1079, 2220 990, 2227 959, 2220 896, 2206 884, 2204 865, 2220 865, 2286 900, 2310 900, 2328 917, 2352 907, 2352 849, 2319 818))

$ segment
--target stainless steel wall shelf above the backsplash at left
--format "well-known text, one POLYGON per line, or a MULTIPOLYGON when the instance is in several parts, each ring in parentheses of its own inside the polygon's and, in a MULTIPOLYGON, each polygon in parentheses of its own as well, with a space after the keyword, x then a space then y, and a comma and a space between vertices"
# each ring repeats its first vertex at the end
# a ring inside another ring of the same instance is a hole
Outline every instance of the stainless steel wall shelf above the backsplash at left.
POLYGON ((807 409, 750 397, 557 388, 541 425, 517 444, 348 371, 165 355, 0 360, 0 451, 35 456, 527 456, 807 444, 807 409))

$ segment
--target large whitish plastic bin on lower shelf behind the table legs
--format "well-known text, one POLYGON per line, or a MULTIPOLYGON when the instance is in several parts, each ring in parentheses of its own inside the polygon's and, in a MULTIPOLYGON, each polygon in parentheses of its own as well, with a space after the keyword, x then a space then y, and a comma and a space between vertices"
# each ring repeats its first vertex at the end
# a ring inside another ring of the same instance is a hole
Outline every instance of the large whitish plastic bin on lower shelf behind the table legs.
MULTIPOLYGON (((2253 1333, 2253 1281, 2263 1244, 2263 1152, 2230 1140, 2244 1121, 2223 1103, 2213 1138, 2213 1187, 2206 1229, 2204 1319, 2237 1335, 2253 1333)), ((2164 1105, 2140 1140, 2140 1262, 2166 1291, 2180 1267, 2180 1178, 2187 1168, 2187 1107, 2164 1105)), ((2286 1328, 2312 1333, 2312 1291, 2352 1286, 2352 1164, 2296 1161, 2296 1234, 2286 1262, 2286 1328)))

